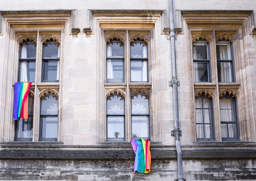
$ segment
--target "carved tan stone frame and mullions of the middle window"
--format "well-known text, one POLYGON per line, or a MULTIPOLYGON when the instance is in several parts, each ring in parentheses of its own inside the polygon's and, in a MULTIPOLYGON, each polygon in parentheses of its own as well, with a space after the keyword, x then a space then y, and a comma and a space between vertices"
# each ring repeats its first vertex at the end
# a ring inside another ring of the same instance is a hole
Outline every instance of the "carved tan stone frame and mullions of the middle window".
MULTIPOLYGON (((131 29, 119 29, 118 31, 113 31, 109 29, 104 29, 103 30, 103 35, 105 37, 105 42, 102 42, 104 45, 104 58, 102 59, 104 61, 104 69, 107 71, 107 43, 111 42, 111 40, 117 39, 121 43, 124 43, 124 82, 122 83, 109 83, 107 82, 107 73, 103 74, 103 82, 104 82, 104 89, 106 91, 106 96, 109 96, 113 94, 114 92, 120 93, 121 95, 124 96, 125 99, 125 119, 124 119, 124 134, 125 138, 123 141, 130 141, 132 139, 132 119, 131 119, 131 96, 136 95, 139 93, 145 94, 148 96, 148 101, 149 105, 151 102, 151 79, 150 79, 150 74, 149 74, 149 65, 150 65, 150 42, 149 42, 149 37, 150 37, 150 30, 131 30, 131 29), (147 81, 131 81, 131 50, 130 50, 130 44, 133 43, 134 41, 141 41, 143 43, 147 43, 147 58, 140 58, 137 60, 147 60, 147 81), (134 93, 136 92, 136 93, 134 93), (129 106, 128 106, 129 105, 129 106)), ((120 58, 118 58, 120 59, 120 58)), ((105 99, 105 98, 104 98, 105 99)), ((105 99, 106 100, 106 99, 105 99)), ((106 106, 106 103, 103 103, 103 106, 106 106)), ((105 109, 105 108, 104 108, 105 109)), ((149 110, 151 107, 149 106, 149 110)), ((105 109, 106 110, 106 109, 105 109)), ((149 111, 149 114, 152 112, 149 111)), ((107 111, 104 111, 103 114, 103 120, 102 125, 104 125, 103 130, 104 130, 104 136, 102 138, 102 141, 118 141, 114 139, 109 139, 107 138, 107 125, 105 123, 107 122, 107 111), (106 119, 106 120, 105 120, 106 119)), ((151 136, 151 115, 148 116, 148 138, 150 139, 151 136)), ((138 138, 137 138, 138 139, 138 138)))

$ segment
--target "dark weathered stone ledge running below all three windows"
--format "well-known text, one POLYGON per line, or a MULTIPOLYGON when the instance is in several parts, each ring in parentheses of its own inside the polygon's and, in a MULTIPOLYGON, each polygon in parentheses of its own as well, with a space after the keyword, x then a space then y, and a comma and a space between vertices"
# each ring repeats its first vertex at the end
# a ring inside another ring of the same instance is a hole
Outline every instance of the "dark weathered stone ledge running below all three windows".
MULTIPOLYGON (((152 160, 176 160, 175 146, 151 143, 152 160)), ((17 142, 0 145, 0 160, 133 160, 134 152, 128 142, 101 143, 95 146, 64 146, 62 143, 17 142)), ((256 159, 256 146, 240 143, 212 143, 208 147, 183 146, 184 160, 197 159, 256 159), (228 146, 229 144, 229 146, 228 146), (247 146, 246 146, 247 145, 247 146)))

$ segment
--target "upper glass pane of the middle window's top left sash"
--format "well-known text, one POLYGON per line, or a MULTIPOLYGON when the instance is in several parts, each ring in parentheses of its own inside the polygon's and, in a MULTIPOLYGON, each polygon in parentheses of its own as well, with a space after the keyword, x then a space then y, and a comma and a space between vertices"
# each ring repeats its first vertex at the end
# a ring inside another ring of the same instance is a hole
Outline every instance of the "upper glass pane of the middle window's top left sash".
POLYGON ((124 57, 124 43, 107 43, 107 57, 124 57))

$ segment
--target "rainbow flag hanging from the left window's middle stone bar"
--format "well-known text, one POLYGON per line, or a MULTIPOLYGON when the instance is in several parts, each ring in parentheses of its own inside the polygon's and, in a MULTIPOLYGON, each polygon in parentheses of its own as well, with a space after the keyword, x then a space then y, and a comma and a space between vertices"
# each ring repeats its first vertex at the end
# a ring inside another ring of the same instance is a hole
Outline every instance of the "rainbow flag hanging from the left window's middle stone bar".
POLYGON ((31 82, 14 83, 13 120, 28 119, 28 93, 31 82))

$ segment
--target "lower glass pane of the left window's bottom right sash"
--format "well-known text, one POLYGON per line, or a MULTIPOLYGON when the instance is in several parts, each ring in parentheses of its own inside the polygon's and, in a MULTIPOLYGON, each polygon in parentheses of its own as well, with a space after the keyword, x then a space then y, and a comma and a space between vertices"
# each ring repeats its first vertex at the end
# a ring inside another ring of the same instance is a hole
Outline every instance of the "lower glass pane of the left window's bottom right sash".
POLYGON ((42 117, 42 138, 57 138, 58 117, 42 117))

